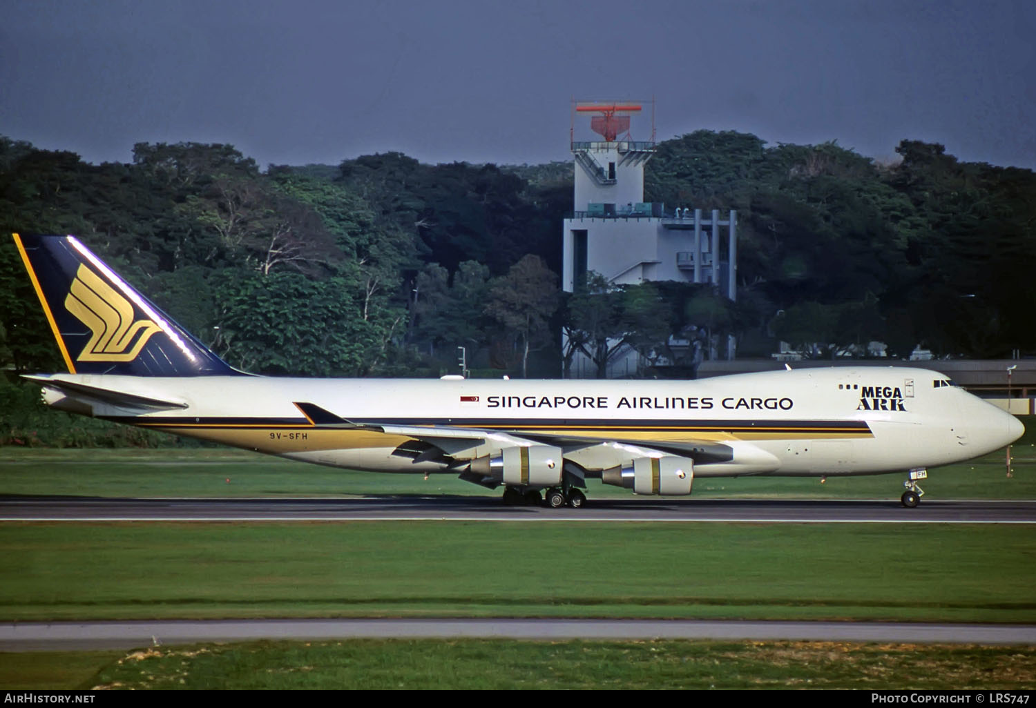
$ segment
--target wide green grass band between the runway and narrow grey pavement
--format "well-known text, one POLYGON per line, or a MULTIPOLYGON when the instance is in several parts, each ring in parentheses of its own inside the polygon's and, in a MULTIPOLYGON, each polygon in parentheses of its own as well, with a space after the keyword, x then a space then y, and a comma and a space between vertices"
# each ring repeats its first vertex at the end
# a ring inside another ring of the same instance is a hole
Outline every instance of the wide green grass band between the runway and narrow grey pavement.
POLYGON ((477 522, 4 524, 0 620, 1036 622, 1036 529, 477 522))

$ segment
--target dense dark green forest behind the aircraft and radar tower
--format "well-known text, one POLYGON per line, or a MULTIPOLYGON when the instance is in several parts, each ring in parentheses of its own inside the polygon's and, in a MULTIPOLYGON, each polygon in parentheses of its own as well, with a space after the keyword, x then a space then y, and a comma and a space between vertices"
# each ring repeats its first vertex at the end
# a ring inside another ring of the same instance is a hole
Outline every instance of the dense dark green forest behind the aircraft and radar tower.
MULTIPOLYGON (((818 356, 871 341, 893 356, 1036 350, 1036 175, 941 145, 897 152, 884 165, 706 130, 660 143, 646 201, 738 209, 737 304, 672 283, 559 292, 571 163, 386 153, 262 171, 229 145, 142 143, 130 164, 94 166, 0 138, 0 229, 78 235, 263 374, 438 376, 462 346, 474 375, 556 377, 578 350, 602 365, 622 342, 651 361, 702 333, 759 356, 778 340, 818 356)), ((9 239, 0 368, 60 368, 9 239)))

